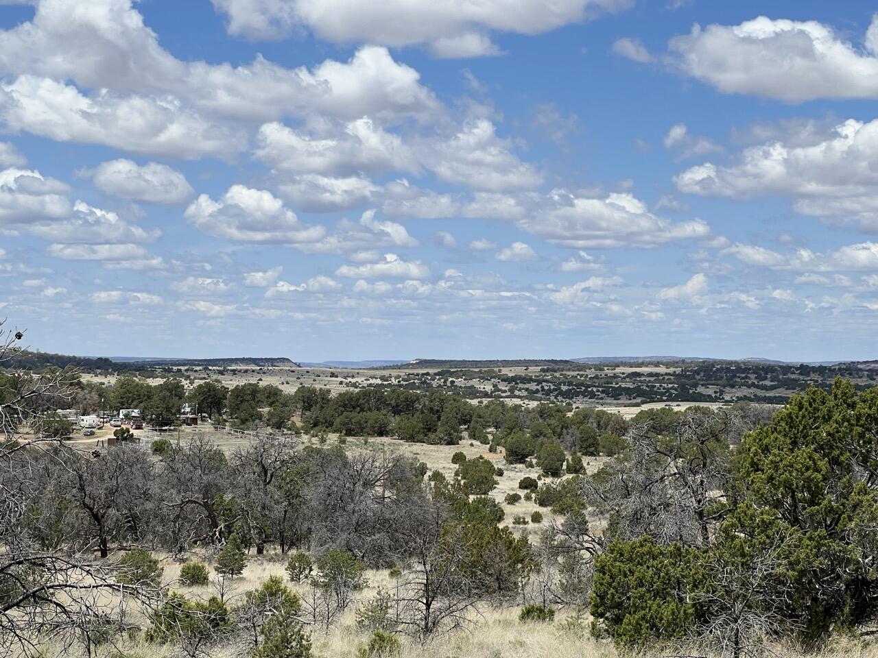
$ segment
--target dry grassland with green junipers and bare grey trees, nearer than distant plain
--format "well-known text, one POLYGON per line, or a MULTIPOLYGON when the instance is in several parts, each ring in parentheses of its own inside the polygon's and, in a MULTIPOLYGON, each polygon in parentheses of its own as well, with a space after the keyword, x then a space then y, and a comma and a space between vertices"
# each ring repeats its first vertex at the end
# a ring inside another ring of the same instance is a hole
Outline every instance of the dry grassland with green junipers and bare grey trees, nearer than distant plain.
POLYGON ((878 653, 878 388, 626 420, 392 387, 85 383, 11 367, 20 340, 0 349, 4 654, 878 653), (102 404, 261 431, 83 450, 54 410, 102 404))

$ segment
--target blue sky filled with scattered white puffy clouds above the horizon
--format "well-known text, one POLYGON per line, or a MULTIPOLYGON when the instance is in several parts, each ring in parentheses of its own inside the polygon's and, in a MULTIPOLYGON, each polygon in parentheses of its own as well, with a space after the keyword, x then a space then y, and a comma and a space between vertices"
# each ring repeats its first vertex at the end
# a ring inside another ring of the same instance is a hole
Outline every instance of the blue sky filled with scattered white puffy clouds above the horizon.
POLYGON ((73 354, 874 358, 873 12, 0 3, 0 312, 73 354))

